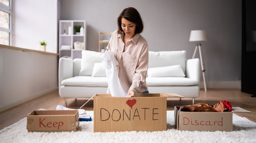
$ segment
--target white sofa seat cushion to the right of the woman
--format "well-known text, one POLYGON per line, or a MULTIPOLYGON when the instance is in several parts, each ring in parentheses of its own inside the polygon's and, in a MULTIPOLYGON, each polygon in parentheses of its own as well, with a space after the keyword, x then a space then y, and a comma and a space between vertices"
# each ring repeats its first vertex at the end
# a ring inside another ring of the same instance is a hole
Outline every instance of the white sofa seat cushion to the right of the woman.
POLYGON ((186 77, 147 77, 147 86, 192 86, 198 81, 186 77))

